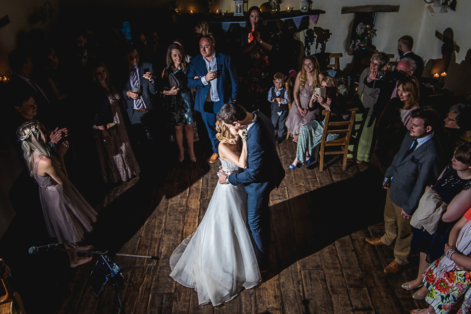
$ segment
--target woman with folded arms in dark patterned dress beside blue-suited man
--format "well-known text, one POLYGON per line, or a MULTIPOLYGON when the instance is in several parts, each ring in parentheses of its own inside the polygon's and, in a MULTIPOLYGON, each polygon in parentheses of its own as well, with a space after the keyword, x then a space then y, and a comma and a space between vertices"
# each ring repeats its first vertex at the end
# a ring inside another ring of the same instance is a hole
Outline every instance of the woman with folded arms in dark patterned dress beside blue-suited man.
POLYGON ((187 87, 188 64, 186 54, 178 44, 170 45, 167 50, 167 67, 162 73, 162 94, 164 94, 164 109, 168 120, 175 128, 175 138, 178 145, 178 161, 185 158, 183 148, 183 128, 185 129, 186 144, 190 160, 196 162, 193 150, 193 99, 187 87))

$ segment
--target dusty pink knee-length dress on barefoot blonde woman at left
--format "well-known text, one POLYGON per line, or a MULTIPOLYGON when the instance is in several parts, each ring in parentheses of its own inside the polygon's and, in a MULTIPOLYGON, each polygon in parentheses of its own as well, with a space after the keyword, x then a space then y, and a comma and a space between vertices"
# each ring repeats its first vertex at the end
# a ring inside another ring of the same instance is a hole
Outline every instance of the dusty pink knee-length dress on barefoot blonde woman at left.
POLYGON ((39 197, 49 235, 57 238, 59 243, 78 243, 83 240, 85 233, 92 231, 92 223, 97 220, 95 209, 69 181, 60 185, 50 175, 35 174, 34 178, 39 185, 39 197))

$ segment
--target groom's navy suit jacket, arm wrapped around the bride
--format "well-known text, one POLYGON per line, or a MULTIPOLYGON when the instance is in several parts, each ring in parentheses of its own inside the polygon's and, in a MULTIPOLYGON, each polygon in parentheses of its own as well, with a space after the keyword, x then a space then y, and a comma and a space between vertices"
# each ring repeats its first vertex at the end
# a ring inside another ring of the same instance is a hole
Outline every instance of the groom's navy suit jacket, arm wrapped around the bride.
POLYGON ((229 176, 232 185, 243 184, 246 190, 251 183, 268 183, 272 190, 285 177, 285 169, 275 147, 273 123, 260 111, 254 111, 257 120, 247 132, 248 165, 241 173, 229 176))

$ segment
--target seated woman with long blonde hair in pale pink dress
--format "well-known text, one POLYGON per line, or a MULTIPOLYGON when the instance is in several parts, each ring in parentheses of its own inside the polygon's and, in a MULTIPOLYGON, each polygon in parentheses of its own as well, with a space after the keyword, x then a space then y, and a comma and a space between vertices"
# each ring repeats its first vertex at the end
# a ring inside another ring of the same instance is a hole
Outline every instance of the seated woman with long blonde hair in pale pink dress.
POLYGON ((302 60, 301 71, 297 73, 294 81, 294 102, 286 119, 286 128, 293 135, 294 143, 297 143, 301 126, 312 120, 322 119, 320 107, 317 106, 313 110, 309 110, 309 102, 314 94, 314 89, 321 86, 323 78, 324 75, 320 71, 316 57, 306 56, 302 60))

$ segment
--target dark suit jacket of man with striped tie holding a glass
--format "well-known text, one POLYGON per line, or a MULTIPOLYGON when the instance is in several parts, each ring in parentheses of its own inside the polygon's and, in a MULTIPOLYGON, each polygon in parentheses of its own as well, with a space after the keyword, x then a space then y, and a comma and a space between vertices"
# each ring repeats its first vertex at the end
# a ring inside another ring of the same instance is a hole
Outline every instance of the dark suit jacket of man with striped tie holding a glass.
MULTIPOLYGON (((129 67, 126 65, 126 69, 128 68, 129 67)), ((147 109, 152 110, 154 108, 152 104, 152 95, 157 94, 157 90, 155 89, 154 84, 152 84, 148 79, 142 77, 145 72, 151 72, 155 83, 155 75, 154 69, 152 68, 152 63, 142 62, 137 65, 137 70, 139 75, 139 84, 141 86, 142 91, 141 97, 144 100, 144 104, 146 105, 147 109)), ((132 115, 134 114, 134 100, 130 97, 127 97, 126 95, 126 92, 131 90, 131 82, 129 81, 129 70, 127 70, 122 77, 124 80, 124 84, 121 93, 122 99, 124 100, 124 109, 126 110, 129 119, 132 120, 132 115)))

